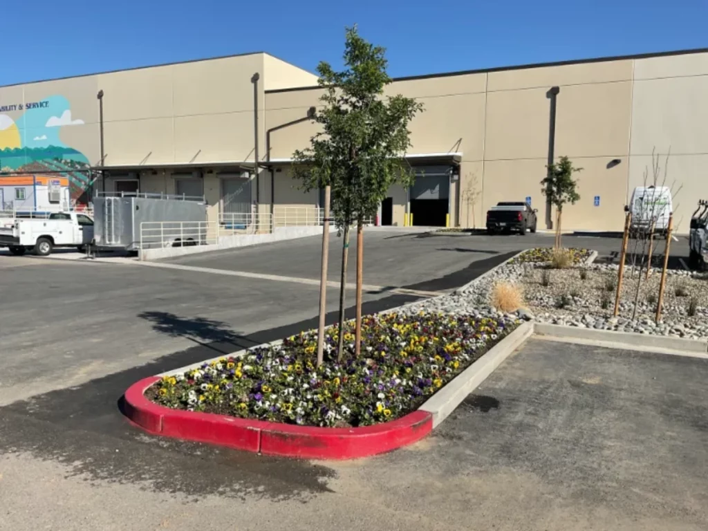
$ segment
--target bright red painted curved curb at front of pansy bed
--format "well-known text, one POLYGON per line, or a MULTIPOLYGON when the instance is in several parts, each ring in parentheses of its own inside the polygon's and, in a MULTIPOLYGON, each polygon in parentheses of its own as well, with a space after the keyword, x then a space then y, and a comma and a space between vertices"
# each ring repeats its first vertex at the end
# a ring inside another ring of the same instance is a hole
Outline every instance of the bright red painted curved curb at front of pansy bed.
POLYGON ((125 416, 154 435, 268 455, 353 459, 409 445, 433 430, 433 416, 426 411, 413 411, 396 421, 375 426, 319 428, 169 409, 145 397, 147 388, 159 379, 144 378, 125 392, 125 416))

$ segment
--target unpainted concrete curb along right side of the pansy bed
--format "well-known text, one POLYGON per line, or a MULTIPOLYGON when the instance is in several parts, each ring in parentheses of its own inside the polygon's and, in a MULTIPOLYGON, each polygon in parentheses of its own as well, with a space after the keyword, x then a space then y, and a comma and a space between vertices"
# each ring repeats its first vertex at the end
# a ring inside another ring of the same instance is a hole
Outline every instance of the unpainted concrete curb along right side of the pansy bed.
POLYGON ((526 322, 517 327, 506 338, 493 346, 489 352, 459 373, 430 397, 418 410, 427 411, 433 416, 433 428, 447 418, 459 406, 468 394, 479 387, 514 350, 520 347, 533 333, 533 324, 526 322))

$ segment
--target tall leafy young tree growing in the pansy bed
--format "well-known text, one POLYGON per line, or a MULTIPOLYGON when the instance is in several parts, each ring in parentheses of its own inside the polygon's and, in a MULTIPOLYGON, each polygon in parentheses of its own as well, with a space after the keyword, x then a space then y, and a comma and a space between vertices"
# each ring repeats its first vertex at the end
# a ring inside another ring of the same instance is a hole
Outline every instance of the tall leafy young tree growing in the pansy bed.
POLYGON ((317 67, 322 108, 314 120, 321 131, 307 149, 297 150, 295 176, 304 188, 331 186, 331 215, 343 232, 339 309, 339 356, 343 351, 344 291, 349 229, 357 225, 357 322, 355 351, 361 348, 363 226, 373 217, 393 183, 411 185, 404 159, 411 145, 408 125, 421 103, 401 95, 384 96, 391 83, 384 48, 362 39, 356 26, 346 29, 344 69, 329 63, 317 67))

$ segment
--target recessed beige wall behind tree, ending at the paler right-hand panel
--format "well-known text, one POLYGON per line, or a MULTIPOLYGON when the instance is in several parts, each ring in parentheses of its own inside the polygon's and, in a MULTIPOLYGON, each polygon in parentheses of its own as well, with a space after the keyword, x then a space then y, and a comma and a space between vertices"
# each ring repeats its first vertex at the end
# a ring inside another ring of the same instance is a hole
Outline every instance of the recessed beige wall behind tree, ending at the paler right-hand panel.
MULTIPOLYGON (((529 196, 544 219, 540 181, 548 153, 546 92, 553 85, 561 88, 556 155, 568 155, 583 167, 581 200, 566 208, 564 227, 621 227, 624 188, 619 195, 615 190, 618 182, 627 182, 629 171, 630 60, 411 79, 389 85, 388 94, 401 93, 423 103, 423 113, 410 127, 412 154, 462 153, 460 181, 451 187, 453 224, 479 227, 486 210, 496 202, 529 196), (617 158, 624 164, 608 169, 607 164, 617 158), (600 205, 595 207, 597 195, 600 205), (458 197, 459 219, 455 219, 458 197)), ((320 94, 320 89, 266 93, 266 127, 306 115, 320 94)), ((315 132, 316 126, 309 122, 273 132, 271 156, 292 156, 295 149, 307 146, 315 132)), ((396 207, 404 207, 405 199, 399 200, 396 207)))

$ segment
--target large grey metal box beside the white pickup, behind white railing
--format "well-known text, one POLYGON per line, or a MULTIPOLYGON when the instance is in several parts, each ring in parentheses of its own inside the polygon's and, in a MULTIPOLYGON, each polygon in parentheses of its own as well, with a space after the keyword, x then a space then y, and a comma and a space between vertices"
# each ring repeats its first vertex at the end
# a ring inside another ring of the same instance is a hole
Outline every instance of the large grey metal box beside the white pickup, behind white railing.
POLYGON ((171 241, 164 235, 180 231, 188 232, 188 239, 197 243, 207 232, 203 197, 103 192, 93 198, 93 218, 98 249, 139 250, 141 227, 149 227, 142 237, 144 247, 171 246, 179 237, 173 236, 175 241, 171 241))

